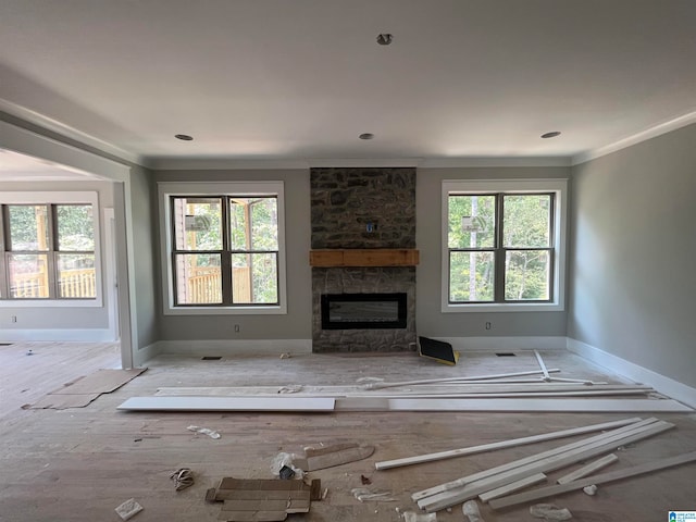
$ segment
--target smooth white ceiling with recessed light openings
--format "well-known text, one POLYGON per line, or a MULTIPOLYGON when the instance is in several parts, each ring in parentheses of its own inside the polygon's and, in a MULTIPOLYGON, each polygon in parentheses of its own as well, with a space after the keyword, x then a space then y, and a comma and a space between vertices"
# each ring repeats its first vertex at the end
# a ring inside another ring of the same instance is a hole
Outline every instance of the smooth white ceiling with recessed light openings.
POLYGON ((156 166, 570 163, 696 121, 694 0, 0 0, 0 24, 1 111, 156 166))

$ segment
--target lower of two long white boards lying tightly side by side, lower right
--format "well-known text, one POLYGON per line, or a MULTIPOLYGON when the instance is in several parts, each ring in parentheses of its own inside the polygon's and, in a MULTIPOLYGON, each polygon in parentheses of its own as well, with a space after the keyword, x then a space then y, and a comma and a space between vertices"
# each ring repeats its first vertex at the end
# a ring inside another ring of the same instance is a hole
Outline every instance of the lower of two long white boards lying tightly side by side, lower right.
MULTIPOLYGON (((618 444, 631 444, 636 440, 641 440, 641 439, 650 437, 652 435, 657 435, 658 433, 662 433, 671 427, 674 427, 674 425, 669 423, 658 422, 658 423, 655 423, 654 427, 649 427, 645 432, 636 433, 634 435, 621 438, 618 444)), ((461 504, 465 500, 470 500, 492 488, 502 486, 505 484, 509 484, 510 482, 513 482, 517 480, 524 478, 530 474, 546 473, 546 472, 555 471, 560 468, 574 464, 575 462, 580 462, 587 458, 601 455, 606 451, 610 451, 612 448, 616 447, 616 445, 617 443, 613 440, 609 443, 604 443, 604 444, 596 443, 585 448, 568 451, 566 453, 561 453, 555 457, 549 457, 536 463, 527 464, 521 468, 515 468, 511 471, 505 472, 504 474, 489 476, 488 478, 484 478, 482 481, 468 484, 467 486, 462 487, 459 490, 445 492, 443 494, 434 495, 432 497, 420 500, 418 505, 419 507, 421 507, 422 509, 425 509, 428 512, 446 509, 457 504, 461 504)))

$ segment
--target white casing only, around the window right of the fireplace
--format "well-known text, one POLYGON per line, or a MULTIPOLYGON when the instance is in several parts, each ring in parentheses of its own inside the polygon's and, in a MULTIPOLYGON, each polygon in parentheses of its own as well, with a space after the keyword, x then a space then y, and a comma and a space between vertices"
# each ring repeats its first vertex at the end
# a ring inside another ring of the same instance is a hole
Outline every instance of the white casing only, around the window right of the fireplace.
POLYGON ((552 312, 566 309, 566 228, 568 214, 567 179, 445 179, 443 181, 443 215, 442 215, 442 312, 552 312), (448 212, 450 194, 538 194, 552 192, 554 235, 552 248, 552 300, 538 302, 449 302, 449 249, 448 249, 448 212))

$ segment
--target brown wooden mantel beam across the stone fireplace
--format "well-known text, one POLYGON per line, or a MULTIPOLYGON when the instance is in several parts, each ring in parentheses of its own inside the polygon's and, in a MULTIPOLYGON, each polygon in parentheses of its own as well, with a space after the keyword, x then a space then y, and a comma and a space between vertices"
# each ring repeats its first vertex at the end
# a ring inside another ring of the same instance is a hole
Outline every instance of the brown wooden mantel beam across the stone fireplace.
POLYGON ((310 266, 415 266, 419 251, 413 248, 352 248, 310 250, 310 266))

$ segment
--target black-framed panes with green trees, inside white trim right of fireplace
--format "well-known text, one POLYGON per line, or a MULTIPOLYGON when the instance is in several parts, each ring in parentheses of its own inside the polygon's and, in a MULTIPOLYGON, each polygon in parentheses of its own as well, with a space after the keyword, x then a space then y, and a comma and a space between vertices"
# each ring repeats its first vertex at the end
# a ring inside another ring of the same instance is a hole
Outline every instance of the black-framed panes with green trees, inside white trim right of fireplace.
POLYGON ((554 204, 554 192, 450 192, 448 301, 549 301, 554 204))

